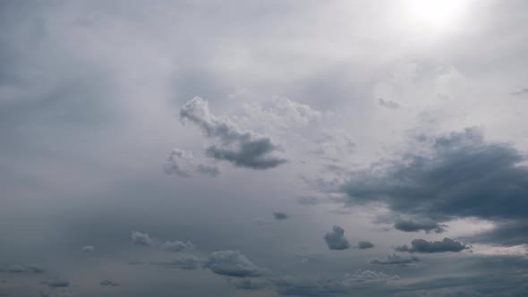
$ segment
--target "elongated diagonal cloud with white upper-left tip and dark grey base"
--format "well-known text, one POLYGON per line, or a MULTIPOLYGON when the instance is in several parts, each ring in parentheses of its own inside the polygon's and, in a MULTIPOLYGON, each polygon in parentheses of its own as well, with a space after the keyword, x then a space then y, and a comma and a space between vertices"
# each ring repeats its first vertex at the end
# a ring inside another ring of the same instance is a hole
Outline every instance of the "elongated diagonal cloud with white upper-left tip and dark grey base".
POLYGON ((209 112, 208 101, 192 98, 180 110, 182 121, 190 121, 200 127, 204 134, 218 140, 206 148, 206 155, 217 160, 225 160, 235 166, 265 170, 286 162, 284 158, 274 157, 278 150, 270 139, 253 132, 240 132, 234 123, 217 118, 209 112))

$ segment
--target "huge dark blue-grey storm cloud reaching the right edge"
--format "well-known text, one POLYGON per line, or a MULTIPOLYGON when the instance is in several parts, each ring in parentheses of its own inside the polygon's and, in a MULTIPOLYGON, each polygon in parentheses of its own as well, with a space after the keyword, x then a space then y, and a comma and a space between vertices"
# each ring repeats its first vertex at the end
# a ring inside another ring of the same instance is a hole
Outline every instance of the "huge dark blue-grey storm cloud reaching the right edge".
POLYGON ((356 172, 345 182, 349 204, 384 202, 396 213, 435 221, 456 217, 523 220, 528 217, 524 155, 483 140, 476 129, 432 141, 429 156, 413 152, 382 172, 356 172))

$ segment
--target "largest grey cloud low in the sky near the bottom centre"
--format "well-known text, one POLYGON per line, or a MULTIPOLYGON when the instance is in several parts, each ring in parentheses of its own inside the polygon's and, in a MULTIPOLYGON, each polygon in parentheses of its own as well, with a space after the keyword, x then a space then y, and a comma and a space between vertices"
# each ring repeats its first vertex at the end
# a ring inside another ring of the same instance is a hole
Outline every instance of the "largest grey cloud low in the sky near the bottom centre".
POLYGON ((224 276, 264 276, 264 269, 257 267, 239 250, 219 250, 210 254, 205 263, 212 272, 224 276))

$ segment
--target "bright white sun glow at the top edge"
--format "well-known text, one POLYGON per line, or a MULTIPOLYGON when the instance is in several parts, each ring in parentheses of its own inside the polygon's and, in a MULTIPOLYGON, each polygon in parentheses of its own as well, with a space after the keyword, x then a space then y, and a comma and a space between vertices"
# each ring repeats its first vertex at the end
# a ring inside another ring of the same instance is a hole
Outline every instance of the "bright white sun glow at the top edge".
POLYGON ((418 26, 441 30, 456 24, 469 0, 407 0, 410 21, 418 26))

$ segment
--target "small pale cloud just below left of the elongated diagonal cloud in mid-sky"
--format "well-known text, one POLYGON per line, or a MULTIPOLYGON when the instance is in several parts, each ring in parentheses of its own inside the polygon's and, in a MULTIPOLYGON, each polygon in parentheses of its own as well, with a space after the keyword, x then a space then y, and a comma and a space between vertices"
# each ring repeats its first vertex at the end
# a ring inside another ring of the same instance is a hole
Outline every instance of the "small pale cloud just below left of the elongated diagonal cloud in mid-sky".
POLYGON ((173 148, 166 158, 164 169, 166 174, 176 174, 181 177, 192 177, 192 174, 205 174, 215 177, 220 174, 217 166, 197 164, 192 152, 181 148, 173 148))

